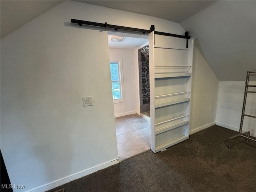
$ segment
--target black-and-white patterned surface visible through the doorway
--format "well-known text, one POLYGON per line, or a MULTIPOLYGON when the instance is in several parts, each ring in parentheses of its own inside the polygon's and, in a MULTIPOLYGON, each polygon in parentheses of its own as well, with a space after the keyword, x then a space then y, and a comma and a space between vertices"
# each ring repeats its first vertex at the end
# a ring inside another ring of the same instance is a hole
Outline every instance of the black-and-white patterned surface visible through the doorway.
POLYGON ((143 104, 150 102, 149 94, 149 46, 140 49, 142 60, 142 98, 143 104))

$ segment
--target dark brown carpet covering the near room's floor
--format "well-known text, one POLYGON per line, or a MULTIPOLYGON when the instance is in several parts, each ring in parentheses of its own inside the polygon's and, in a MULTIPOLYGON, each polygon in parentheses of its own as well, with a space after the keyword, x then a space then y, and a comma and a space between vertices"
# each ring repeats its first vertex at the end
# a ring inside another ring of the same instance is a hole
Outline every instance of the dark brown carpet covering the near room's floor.
POLYGON ((238 137, 229 150, 235 134, 215 125, 164 152, 144 152, 49 192, 256 192, 256 142, 238 137))

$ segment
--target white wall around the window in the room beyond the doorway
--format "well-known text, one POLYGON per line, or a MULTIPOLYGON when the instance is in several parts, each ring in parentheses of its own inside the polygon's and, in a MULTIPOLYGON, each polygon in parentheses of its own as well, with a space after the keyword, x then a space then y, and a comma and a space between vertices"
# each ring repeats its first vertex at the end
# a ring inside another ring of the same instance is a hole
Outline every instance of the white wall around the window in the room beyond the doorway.
MULTIPOLYGON (((138 53, 137 53, 138 54, 138 53)), ((109 49, 109 57, 122 58, 125 102, 114 104, 115 117, 136 113, 136 82, 134 50, 109 49)))

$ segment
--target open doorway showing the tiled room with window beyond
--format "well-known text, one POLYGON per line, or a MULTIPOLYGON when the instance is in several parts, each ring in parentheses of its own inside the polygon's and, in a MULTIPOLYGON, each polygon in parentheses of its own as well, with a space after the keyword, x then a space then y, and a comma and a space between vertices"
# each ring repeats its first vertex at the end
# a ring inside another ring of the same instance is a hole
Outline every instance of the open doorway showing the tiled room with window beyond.
POLYGON ((148 35, 108 32, 108 46, 121 161, 150 150, 148 35))

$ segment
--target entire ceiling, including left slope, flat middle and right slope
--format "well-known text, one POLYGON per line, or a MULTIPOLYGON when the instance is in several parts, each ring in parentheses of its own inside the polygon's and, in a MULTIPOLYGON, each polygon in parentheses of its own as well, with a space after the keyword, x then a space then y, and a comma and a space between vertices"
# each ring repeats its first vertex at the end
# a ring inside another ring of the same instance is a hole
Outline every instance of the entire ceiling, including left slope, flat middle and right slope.
MULTIPOLYGON (((63 1, 0 1, 1 38, 63 1)), ((79 1, 174 22, 196 46, 219 80, 245 80, 256 70, 256 1, 79 1)))

